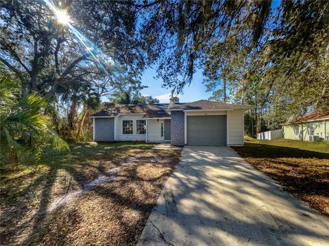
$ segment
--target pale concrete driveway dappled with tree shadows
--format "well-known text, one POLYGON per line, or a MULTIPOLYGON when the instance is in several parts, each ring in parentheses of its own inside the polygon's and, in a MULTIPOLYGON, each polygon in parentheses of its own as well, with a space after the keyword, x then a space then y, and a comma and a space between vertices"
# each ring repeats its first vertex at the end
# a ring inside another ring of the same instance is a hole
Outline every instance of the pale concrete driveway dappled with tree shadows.
POLYGON ((329 221, 231 148, 186 146, 138 245, 329 245, 329 221))

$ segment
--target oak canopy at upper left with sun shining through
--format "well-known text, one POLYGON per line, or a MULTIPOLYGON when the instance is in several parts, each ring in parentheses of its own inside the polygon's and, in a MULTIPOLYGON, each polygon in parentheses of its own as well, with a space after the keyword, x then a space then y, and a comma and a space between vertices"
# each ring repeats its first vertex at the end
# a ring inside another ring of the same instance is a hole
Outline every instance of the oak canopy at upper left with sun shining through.
POLYGON ((71 25, 88 38, 86 46, 79 33, 58 23, 45 1, 0 3, 0 61, 21 80, 23 94, 37 91, 52 98, 60 87, 106 75, 101 66, 110 74, 138 77, 143 59, 134 6, 124 8, 119 1, 59 3, 56 7, 67 10, 71 25), (97 52, 112 63, 97 62, 97 52))

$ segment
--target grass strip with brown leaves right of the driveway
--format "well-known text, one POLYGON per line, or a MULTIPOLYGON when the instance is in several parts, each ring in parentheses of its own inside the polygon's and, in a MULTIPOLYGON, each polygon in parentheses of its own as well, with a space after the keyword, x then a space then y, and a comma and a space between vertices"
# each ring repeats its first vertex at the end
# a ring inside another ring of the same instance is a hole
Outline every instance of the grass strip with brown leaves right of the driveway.
POLYGON ((245 138, 234 147, 249 164, 329 216, 329 144, 245 138))

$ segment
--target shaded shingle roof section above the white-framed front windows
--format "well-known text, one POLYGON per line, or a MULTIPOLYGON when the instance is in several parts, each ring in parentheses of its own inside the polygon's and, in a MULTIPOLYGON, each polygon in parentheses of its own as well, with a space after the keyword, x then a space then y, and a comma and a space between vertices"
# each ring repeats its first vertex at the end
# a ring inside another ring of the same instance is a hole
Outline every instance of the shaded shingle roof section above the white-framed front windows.
POLYGON ((149 105, 113 105, 106 104, 105 109, 90 115, 90 117, 111 117, 126 113, 145 114, 144 118, 166 118, 170 117, 166 109, 168 103, 149 104, 149 105))

